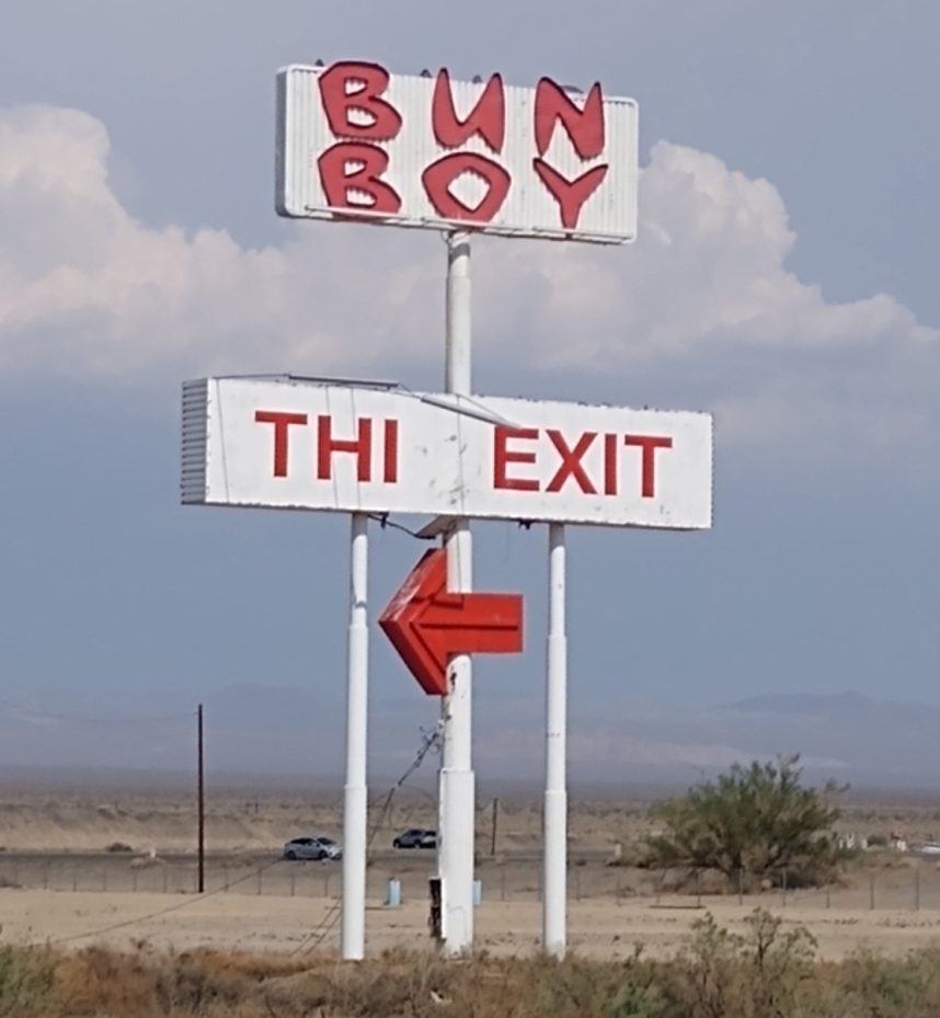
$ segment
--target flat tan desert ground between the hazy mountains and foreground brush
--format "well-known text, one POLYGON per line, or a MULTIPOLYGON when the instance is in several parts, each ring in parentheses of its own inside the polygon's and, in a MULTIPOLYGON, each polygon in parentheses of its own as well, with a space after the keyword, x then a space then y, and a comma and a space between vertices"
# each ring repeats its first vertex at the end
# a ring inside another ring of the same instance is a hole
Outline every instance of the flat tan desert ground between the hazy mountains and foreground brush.
MULTIPOLYGON (((738 897, 706 881, 677 887, 630 865, 650 828, 649 793, 572 797, 570 943, 587 957, 618 958, 679 948, 711 912, 732 928, 756 906, 805 926, 824 958, 866 947, 901 954, 940 942, 936 860, 887 848, 869 851, 826 889, 780 889, 738 897), (616 865, 615 865, 616 863, 616 865)), ((341 834, 341 796, 276 789, 214 790, 207 809, 206 891, 196 889, 196 811, 190 790, 0 789, 0 942, 66 948, 101 942, 303 952, 335 950, 340 865, 290 862, 285 840, 341 834)), ((492 798, 478 815, 478 946, 498 954, 538 949, 540 807, 537 797, 492 798)), ((856 793, 844 802, 844 833, 912 844, 940 833, 940 803, 928 796, 856 793)), ((434 853, 396 850, 394 833, 434 826, 427 791, 406 789, 370 810, 367 948, 419 948, 427 934, 427 879, 434 853), (401 882, 400 907, 385 904, 401 882)))

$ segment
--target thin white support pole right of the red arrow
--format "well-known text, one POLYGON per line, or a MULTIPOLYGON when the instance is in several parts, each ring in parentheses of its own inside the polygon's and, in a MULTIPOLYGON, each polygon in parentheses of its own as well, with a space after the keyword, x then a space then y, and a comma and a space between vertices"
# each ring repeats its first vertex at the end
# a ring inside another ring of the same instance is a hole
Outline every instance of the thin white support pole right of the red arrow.
POLYGON ((568 637, 564 524, 549 524, 549 631, 546 682, 544 879, 542 948, 564 958, 568 911, 568 637))

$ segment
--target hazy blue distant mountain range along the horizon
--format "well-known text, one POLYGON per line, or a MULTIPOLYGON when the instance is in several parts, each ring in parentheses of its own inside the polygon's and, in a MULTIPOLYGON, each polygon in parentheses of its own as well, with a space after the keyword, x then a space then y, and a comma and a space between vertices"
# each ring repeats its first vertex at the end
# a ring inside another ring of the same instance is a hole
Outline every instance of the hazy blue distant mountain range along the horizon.
MULTIPOLYGON (((153 725, 70 723, 0 710, 0 764, 185 774, 194 759, 193 720, 153 725), (105 737, 103 737, 103 735, 105 737)), ((56 704, 57 712, 67 712, 56 704)), ((371 718, 370 769, 394 778, 414 757, 434 705, 387 700, 371 718)), ((48 708, 51 710, 51 707, 48 708)), ((474 759, 481 781, 537 787, 543 760, 541 704, 480 711, 474 759)), ((207 758, 239 783, 266 776, 333 785, 343 764, 342 701, 313 690, 242 685, 207 705, 207 758)), ((813 778, 856 786, 940 788, 940 707, 874 700, 857 693, 768 694, 710 708, 629 704, 592 713, 573 704, 570 775, 575 785, 681 786, 735 760, 800 753, 813 778)), ((429 758, 425 771, 436 768, 429 758)))

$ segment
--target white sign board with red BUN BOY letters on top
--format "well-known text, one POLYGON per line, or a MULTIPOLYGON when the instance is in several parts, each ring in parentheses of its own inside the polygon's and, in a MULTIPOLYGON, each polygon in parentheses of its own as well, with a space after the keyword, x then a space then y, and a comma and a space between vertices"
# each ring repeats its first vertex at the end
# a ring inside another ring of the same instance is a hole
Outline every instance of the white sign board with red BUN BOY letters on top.
POLYGON ((622 243, 637 232, 637 104, 542 78, 451 81, 377 64, 277 77, 277 210, 622 243))

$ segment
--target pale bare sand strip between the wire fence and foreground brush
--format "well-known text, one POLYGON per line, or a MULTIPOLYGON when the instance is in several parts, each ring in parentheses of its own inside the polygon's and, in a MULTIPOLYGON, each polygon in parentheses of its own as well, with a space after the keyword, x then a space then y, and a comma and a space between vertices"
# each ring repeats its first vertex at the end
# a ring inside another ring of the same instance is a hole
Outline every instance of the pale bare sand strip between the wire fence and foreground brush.
MULTIPOLYGON (((735 902, 709 906, 722 925, 741 928, 750 912, 735 902)), ((570 945, 591 958, 624 958, 634 945, 653 957, 669 954, 687 942, 691 924, 704 908, 657 907, 649 902, 574 903, 569 915, 570 945)), ((778 913, 779 914, 779 913, 778 913)), ((325 901, 225 894, 205 899, 162 894, 0 891, 0 942, 51 943, 67 949, 92 943, 118 949, 147 945, 153 949, 195 947, 251 951, 335 951, 339 922, 325 901), (168 908, 175 908, 167 912, 168 908), (126 924, 126 925, 122 925, 126 924)), ((370 907, 367 951, 431 948, 420 902, 400 908, 370 907)), ((819 956, 839 959, 862 947, 891 954, 940 941, 940 913, 866 912, 787 908, 788 925, 805 926, 819 945, 819 956)), ((535 902, 484 903, 477 913, 477 947, 494 954, 538 950, 540 910, 535 902)))

